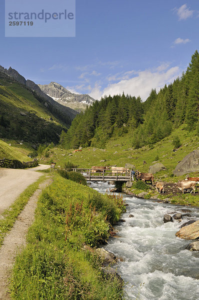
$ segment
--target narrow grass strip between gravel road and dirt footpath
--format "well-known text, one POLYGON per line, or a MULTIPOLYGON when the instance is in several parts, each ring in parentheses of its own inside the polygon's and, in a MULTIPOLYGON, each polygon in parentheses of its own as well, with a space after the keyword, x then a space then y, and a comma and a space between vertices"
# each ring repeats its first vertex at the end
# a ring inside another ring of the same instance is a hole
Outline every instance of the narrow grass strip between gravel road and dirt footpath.
POLYGON ((28 202, 29 197, 38 188, 38 185, 45 180, 45 175, 38 178, 36 182, 30 184, 17 198, 16 200, 3 211, 2 219, 0 219, 0 245, 4 239, 5 234, 12 228, 15 219, 21 212, 25 204, 28 202))

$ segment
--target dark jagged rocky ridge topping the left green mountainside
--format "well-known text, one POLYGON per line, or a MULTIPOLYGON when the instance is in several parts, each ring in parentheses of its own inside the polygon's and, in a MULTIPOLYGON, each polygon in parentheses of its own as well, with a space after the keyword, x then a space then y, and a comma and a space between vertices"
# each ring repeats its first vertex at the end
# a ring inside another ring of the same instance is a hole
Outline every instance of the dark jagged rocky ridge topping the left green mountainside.
POLYGON ((54 109, 59 111, 61 114, 64 114, 66 117, 73 119, 77 112, 70 107, 66 107, 67 105, 60 105, 57 101, 54 101, 49 95, 46 95, 37 84, 29 79, 25 79, 22 75, 20 75, 15 69, 9 67, 8 69, 2 67, 0 65, 0 72, 8 75, 12 79, 16 80, 20 84, 25 85, 27 88, 31 89, 44 100, 45 107, 53 106, 54 109))

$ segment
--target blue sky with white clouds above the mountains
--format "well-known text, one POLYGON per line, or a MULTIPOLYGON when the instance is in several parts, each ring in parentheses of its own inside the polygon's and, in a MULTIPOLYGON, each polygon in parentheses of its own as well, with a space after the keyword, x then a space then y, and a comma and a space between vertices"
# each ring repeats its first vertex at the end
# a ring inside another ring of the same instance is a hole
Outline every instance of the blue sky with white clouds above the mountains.
POLYGON ((76 0, 75 37, 5 37, 4 4, 0 65, 98 100, 124 91, 145 101, 152 88, 180 76, 199 50, 199 0, 76 0))

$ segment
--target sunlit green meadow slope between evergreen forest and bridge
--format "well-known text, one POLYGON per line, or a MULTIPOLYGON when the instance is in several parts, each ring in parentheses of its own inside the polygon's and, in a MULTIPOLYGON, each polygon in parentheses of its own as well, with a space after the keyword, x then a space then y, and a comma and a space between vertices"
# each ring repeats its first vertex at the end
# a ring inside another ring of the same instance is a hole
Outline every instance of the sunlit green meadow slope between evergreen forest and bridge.
POLYGON ((65 150, 61 148, 53 148, 48 151, 49 157, 42 161, 48 162, 55 160, 58 165, 63 166, 64 162, 70 161, 79 167, 91 167, 92 165, 114 165, 124 166, 125 163, 131 163, 135 169, 148 172, 153 161, 161 162, 165 167, 165 171, 155 174, 159 177, 163 174, 171 175, 177 163, 192 150, 198 148, 199 137, 194 131, 187 131, 184 125, 175 129, 171 135, 165 137, 161 141, 155 143, 152 147, 143 146, 139 149, 133 149, 129 134, 124 134, 118 138, 111 138, 106 143, 105 149, 86 147, 81 152, 72 153, 72 149, 65 150), (173 151, 172 140, 174 136, 179 136, 181 146, 173 151), (105 162, 100 162, 105 159, 105 162), (146 161, 143 164, 143 161, 146 161))

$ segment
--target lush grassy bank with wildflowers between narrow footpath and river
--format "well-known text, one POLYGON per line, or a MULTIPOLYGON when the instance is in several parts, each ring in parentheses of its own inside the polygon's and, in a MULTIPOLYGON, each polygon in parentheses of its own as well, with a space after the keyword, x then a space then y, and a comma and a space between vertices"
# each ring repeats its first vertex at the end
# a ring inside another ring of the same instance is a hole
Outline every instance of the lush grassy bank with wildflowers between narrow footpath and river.
POLYGON ((121 199, 56 175, 40 195, 27 246, 16 257, 11 296, 20 300, 119 300, 116 278, 101 271, 95 246, 124 208, 121 199))

